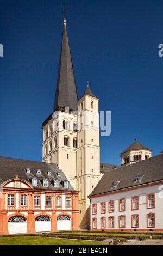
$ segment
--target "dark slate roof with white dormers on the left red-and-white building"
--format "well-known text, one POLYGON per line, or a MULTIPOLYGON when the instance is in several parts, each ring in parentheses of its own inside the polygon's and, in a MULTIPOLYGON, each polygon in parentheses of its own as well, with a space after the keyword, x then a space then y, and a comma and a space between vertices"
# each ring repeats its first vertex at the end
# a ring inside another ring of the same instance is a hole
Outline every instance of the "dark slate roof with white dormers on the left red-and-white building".
POLYGON ((69 184, 69 188, 64 188, 63 181, 67 180, 65 174, 58 168, 56 163, 43 163, 30 160, 14 159, 10 157, 0 157, 0 185, 9 180, 15 178, 18 174, 18 178, 28 181, 32 185, 32 178, 38 179, 38 186, 33 187, 35 189, 43 190, 61 190, 61 191, 74 191, 74 188, 69 184), (30 174, 27 174, 26 168, 31 169, 30 174), (37 174, 36 170, 40 169, 41 174, 37 174), (48 171, 52 172, 52 176, 47 174, 48 171), (61 177, 57 175, 61 172, 61 177), (43 179, 49 180, 49 187, 43 187, 43 179), (59 180, 59 188, 54 188, 53 180, 59 180))

